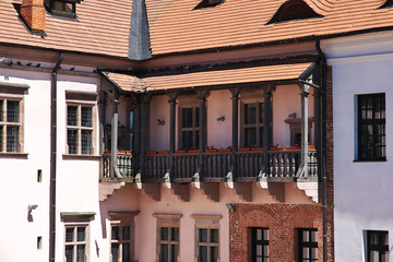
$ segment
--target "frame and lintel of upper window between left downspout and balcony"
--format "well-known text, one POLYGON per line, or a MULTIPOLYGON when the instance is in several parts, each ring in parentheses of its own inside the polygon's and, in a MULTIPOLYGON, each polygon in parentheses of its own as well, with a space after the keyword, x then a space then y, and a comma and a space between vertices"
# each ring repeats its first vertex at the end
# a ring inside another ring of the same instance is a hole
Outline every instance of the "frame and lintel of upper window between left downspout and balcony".
POLYGON ((96 93, 79 93, 66 92, 66 155, 71 156, 92 156, 97 153, 97 94, 96 93), (69 107, 76 107, 76 126, 69 126, 69 107), (91 108, 91 127, 82 127, 82 108, 91 108), (76 153, 70 153, 69 148, 69 130, 76 130, 76 153), (91 131, 91 148, 90 154, 82 153, 82 131, 91 131))

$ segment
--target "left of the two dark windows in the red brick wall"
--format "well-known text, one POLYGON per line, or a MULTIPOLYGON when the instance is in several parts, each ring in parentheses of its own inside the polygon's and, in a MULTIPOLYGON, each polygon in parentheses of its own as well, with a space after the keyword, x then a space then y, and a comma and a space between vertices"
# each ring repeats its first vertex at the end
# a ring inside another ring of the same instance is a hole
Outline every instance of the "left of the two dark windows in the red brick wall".
POLYGON ((269 228, 251 228, 252 262, 269 262, 269 228))

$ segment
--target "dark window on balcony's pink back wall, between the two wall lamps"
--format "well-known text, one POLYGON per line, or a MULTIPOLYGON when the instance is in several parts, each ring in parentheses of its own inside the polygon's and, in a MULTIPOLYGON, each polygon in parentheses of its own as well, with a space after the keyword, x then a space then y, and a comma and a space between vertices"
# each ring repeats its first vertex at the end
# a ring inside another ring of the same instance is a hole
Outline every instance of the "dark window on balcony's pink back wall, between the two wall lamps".
POLYGON ((189 150, 199 145, 199 107, 180 108, 179 147, 189 150))

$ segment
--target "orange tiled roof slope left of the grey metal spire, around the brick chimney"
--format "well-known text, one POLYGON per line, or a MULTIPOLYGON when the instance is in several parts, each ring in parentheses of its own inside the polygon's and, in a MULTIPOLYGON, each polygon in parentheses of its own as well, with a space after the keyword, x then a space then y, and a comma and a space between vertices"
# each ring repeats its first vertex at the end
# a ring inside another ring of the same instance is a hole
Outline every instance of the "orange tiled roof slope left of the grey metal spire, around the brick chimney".
POLYGON ((29 34, 13 3, 0 1, 0 43, 128 57, 132 0, 84 0, 76 3, 78 21, 46 15, 46 37, 29 34))

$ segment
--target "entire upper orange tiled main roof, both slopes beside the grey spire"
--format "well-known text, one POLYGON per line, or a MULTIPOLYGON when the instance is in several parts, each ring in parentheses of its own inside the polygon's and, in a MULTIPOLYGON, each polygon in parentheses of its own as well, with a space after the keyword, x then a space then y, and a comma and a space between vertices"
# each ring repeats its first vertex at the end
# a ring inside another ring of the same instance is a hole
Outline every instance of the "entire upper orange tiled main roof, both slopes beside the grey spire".
MULTIPOLYGON (((145 0, 152 55, 320 37, 393 26, 385 0, 305 0, 323 17, 266 24, 286 0, 226 0, 194 9, 201 0, 145 0)), ((13 3, 0 1, 0 43, 128 58, 133 0, 84 0, 78 21, 46 16, 48 36, 31 35, 13 3)), ((132 48, 132 47, 130 47, 132 48)))

